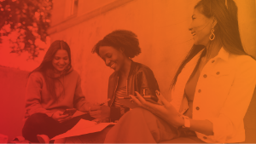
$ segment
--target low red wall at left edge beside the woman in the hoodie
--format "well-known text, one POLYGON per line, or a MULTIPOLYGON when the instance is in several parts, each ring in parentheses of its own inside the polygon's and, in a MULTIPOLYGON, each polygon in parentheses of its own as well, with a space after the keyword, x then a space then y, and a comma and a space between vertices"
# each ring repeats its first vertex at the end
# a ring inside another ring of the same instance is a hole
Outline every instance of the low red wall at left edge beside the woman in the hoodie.
POLYGON ((21 135, 28 73, 0 66, 0 134, 9 141, 21 135))

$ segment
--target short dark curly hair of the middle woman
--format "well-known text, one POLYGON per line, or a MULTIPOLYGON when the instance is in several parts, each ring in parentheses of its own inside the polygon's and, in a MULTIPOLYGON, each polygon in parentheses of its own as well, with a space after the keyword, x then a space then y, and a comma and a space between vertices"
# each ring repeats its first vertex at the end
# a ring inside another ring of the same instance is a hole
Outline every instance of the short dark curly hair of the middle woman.
POLYGON ((141 53, 137 35, 127 30, 116 30, 109 33, 102 40, 96 43, 92 49, 92 53, 99 55, 99 50, 102 46, 110 46, 114 49, 122 49, 128 58, 134 58, 141 53))

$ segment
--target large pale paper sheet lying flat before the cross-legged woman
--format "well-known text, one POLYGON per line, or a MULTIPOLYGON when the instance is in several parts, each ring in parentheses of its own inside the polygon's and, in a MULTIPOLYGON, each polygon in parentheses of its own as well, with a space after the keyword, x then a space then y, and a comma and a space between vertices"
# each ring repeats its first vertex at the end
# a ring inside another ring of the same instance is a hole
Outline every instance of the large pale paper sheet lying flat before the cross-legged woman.
POLYGON ((79 123, 76 124, 71 130, 67 130, 66 133, 61 135, 56 135, 51 140, 57 140, 65 137, 71 137, 71 136, 77 136, 77 135, 85 135, 90 133, 95 133, 98 131, 102 131, 105 129, 108 125, 112 125, 115 123, 100 123, 96 124, 96 122, 80 119, 79 123))

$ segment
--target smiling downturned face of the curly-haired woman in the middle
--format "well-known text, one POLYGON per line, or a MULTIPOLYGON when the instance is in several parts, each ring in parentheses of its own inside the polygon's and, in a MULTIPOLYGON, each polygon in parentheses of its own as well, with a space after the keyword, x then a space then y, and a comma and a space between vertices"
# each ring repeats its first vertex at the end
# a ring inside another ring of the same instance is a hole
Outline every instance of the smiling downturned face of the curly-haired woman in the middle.
POLYGON ((125 62, 125 54, 119 49, 114 49, 110 46, 101 46, 99 55, 105 61, 106 66, 113 68, 114 71, 119 71, 125 62))

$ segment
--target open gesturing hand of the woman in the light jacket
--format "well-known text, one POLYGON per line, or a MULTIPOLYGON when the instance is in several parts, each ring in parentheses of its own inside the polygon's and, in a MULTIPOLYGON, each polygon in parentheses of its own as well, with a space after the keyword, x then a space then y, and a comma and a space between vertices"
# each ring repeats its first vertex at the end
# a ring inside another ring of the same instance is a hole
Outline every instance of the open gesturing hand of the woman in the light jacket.
POLYGON ((166 101, 166 98, 158 90, 156 90, 156 95, 159 99, 159 105, 146 101, 137 91, 136 94, 137 98, 134 95, 130 96, 132 101, 136 102, 138 106, 148 109, 148 111, 153 112, 173 126, 179 127, 183 125, 183 118, 179 112, 177 112, 170 102, 166 101))

